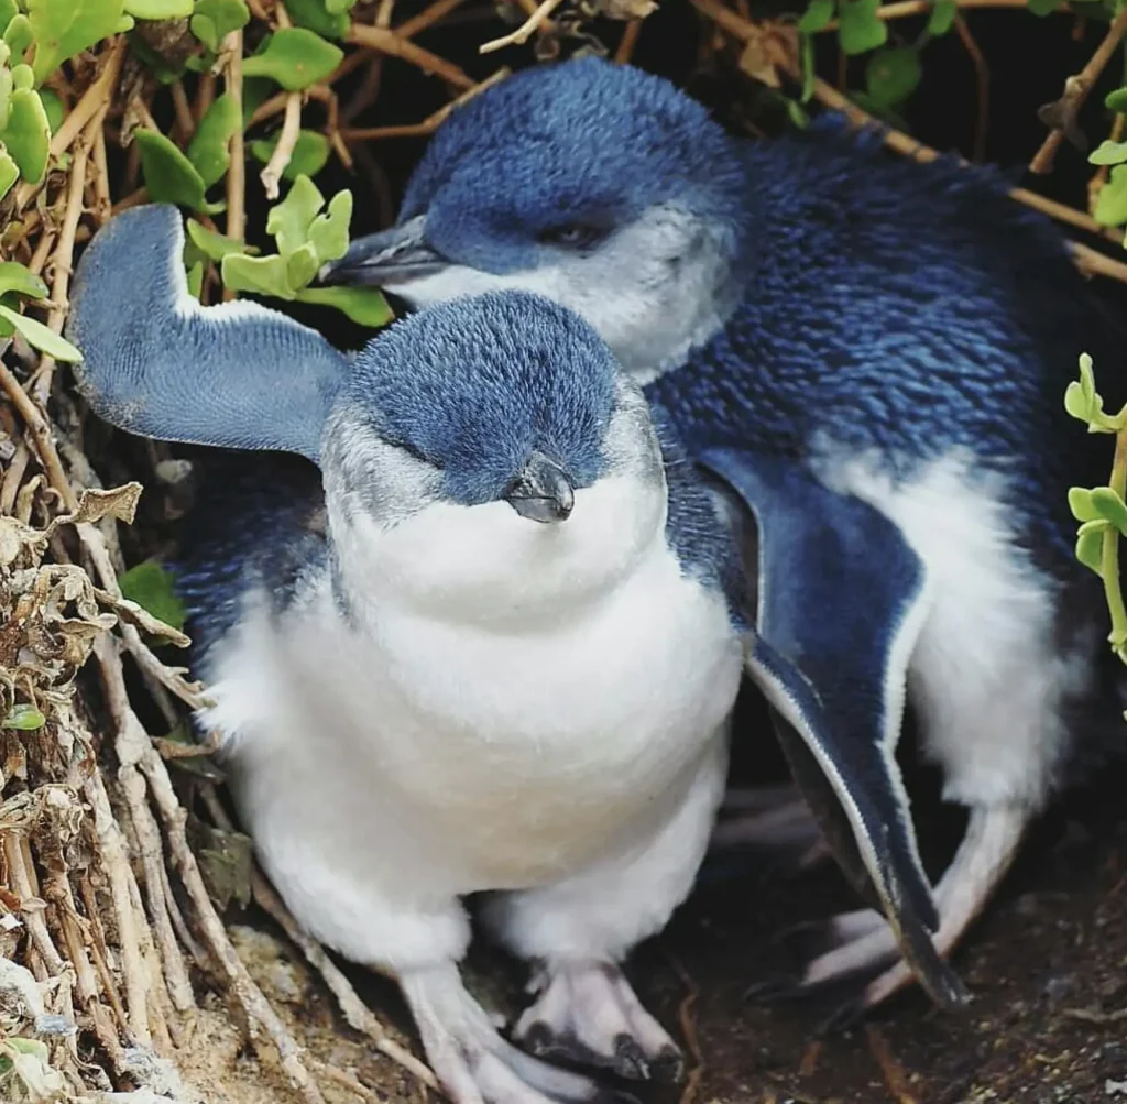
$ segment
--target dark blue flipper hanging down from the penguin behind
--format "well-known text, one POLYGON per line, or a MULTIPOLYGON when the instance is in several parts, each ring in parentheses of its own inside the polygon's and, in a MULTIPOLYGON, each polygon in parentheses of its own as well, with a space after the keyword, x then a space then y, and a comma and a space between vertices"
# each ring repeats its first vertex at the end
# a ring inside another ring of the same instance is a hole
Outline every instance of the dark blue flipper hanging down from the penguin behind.
POLYGON ((880 910, 942 1006, 967 999, 932 945, 939 925, 895 761, 926 573, 896 525, 797 462, 715 449, 699 462, 758 525, 757 638, 748 670, 795 779, 852 884, 880 910))

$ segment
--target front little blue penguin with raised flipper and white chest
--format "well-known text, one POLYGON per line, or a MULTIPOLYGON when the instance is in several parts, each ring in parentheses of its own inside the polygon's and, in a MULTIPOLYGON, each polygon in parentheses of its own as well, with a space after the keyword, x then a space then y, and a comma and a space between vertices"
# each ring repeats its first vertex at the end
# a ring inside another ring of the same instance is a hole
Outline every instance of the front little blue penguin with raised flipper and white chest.
POLYGON ((112 220, 68 333, 114 425, 293 454, 201 503, 178 565, 264 868, 398 981, 458 1104, 614 1098, 558 1058, 675 1074, 619 963, 689 893, 724 792, 744 600, 711 495, 543 297, 435 306, 349 357, 201 307, 183 245, 175 207, 112 220), (459 973, 473 894, 534 966, 523 1050, 459 973))

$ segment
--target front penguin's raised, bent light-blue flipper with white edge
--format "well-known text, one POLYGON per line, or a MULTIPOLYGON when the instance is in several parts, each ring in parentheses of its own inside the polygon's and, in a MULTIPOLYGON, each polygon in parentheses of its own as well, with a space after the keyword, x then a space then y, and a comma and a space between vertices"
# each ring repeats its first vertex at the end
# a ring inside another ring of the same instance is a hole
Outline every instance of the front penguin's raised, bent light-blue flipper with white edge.
POLYGON ((98 231, 71 288, 79 390, 112 425, 162 441, 298 452, 317 461, 348 360, 257 303, 201 307, 176 207, 125 211, 98 231))

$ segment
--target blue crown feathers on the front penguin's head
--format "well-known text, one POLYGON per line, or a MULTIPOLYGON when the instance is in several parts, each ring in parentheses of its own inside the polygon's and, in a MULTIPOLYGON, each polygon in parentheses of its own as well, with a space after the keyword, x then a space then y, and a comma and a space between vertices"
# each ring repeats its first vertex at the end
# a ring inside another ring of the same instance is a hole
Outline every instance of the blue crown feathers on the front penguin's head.
POLYGON ((606 466, 618 373, 577 315, 538 295, 492 292, 381 334, 357 357, 339 403, 441 468, 446 495, 473 505, 498 498, 533 451, 576 487, 593 484, 606 466))

